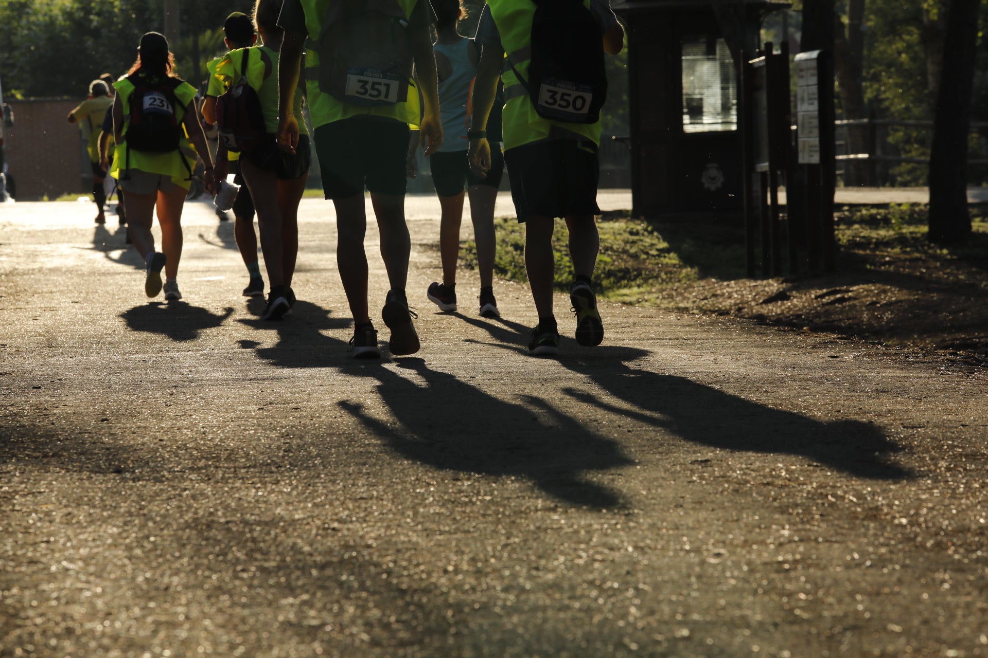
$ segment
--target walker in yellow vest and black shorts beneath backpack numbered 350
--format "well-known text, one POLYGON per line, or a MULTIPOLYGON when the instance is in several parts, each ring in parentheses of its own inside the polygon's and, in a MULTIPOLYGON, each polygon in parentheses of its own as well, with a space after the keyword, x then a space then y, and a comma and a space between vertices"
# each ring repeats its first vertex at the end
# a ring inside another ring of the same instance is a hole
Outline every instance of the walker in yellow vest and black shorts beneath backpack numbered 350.
MULTIPOLYGON (((620 52, 624 33, 608 1, 585 0, 584 7, 596 19, 601 34, 601 39, 596 40, 595 31, 586 48, 620 52)), ((485 129, 503 70, 504 160, 518 219, 526 224, 525 266, 538 313, 529 353, 537 356, 559 351, 559 331, 552 313, 552 230, 556 217, 565 218, 569 229, 569 251, 576 275, 570 301, 577 316, 577 342, 600 344, 604 326, 590 278, 600 249, 594 216, 600 212, 597 147, 601 124, 600 120, 577 123, 545 118, 535 109, 526 82, 535 12, 533 0, 487 0, 477 24, 476 42, 481 54, 473 86, 468 157, 473 172, 486 175, 491 166, 491 147, 485 129)))

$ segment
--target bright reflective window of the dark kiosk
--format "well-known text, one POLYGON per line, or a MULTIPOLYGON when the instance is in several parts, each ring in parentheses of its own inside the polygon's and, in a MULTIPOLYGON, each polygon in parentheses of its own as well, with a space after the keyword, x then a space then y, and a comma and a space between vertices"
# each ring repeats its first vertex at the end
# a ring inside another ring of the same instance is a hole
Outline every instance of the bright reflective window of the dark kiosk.
POLYGON ((683 131, 737 130, 734 61, 722 38, 683 41, 683 131))

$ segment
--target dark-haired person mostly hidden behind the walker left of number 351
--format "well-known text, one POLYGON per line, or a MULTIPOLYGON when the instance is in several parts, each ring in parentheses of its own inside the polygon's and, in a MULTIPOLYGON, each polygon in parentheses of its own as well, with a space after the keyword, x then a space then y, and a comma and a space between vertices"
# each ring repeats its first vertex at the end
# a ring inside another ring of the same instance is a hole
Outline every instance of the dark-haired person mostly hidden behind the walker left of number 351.
MULTIPOLYGON (((223 22, 223 42, 227 50, 239 48, 249 48, 257 42, 257 34, 254 32, 254 24, 250 17, 243 12, 233 12, 226 17, 223 22)), ((229 52, 227 52, 229 54, 229 52)), ((203 102, 203 118, 207 123, 216 122, 216 98, 218 98, 227 87, 224 78, 216 75, 216 65, 224 58, 217 57, 206 64, 209 72, 209 84, 206 87, 206 100, 203 102)), ((250 188, 244 183, 243 175, 240 173, 240 154, 230 153, 227 156, 229 161, 229 171, 233 173, 233 183, 240 185, 236 198, 233 199, 233 237, 237 242, 237 249, 247 267, 249 280, 244 288, 244 297, 261 297, 264 295, 264 278, 261 276, 261 264, 257 259, 257 235, 254 233, 254 199, 250 195, 250 188)), ((218 208, 216 213, 222 211, 218 208)), ((226 213, 222 213, 225 218, 226 213)))

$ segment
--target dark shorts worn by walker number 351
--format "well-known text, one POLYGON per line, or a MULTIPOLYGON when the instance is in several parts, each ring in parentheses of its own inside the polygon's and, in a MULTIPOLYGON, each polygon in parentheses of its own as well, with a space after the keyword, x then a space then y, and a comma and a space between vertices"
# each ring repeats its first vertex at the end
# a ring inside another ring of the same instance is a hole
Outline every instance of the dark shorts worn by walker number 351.
POLYGON ((320 125, 313 135, 326 198, 405 193, 408 124, 361 114, 320 125))

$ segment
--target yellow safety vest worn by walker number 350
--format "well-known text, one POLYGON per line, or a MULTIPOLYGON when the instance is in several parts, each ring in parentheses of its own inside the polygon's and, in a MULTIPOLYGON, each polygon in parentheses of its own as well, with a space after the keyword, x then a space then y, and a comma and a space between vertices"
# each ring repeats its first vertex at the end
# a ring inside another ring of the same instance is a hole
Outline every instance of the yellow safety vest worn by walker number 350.
MULTIPOLYGON (((583 0, 590 7, 590 0, 583 0)), ((532 0, 487 0, 491 18, 501 35, 501 45, 506 53, 504 72, 504 126, 505 149, 523 146, 546 139, 577 139, 601 143, 601 123, 566 123, 542 118, 529 100, 529 92, 522 85, 515 71, 528 83, 529 62, 532 60, 532 21, 535 3, 532 0), (510 65, 509 65, 510 62, 510 65)))

